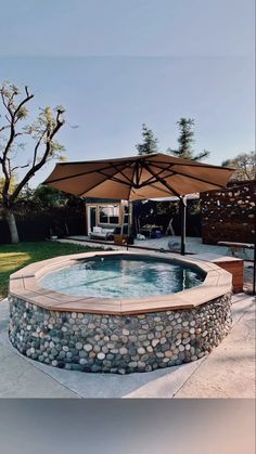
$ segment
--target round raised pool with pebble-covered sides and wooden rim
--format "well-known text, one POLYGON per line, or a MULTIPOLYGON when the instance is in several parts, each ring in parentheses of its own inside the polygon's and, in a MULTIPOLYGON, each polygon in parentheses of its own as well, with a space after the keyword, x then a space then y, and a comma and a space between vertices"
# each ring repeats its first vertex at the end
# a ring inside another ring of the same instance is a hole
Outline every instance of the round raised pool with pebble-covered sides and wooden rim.
POLYGON ((10 278, 12 345, 65 369, 132 373, 195 361, 231 327, 232 275, 170 254, 56 257, 10 278))

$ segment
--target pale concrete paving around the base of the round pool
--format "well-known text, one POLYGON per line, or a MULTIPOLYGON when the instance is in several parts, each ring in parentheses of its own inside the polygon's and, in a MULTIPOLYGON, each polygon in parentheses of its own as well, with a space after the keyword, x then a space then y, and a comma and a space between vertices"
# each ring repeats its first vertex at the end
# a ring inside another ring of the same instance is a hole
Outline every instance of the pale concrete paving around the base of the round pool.
POLYGON ((87 374, 22 356, 9 342, 7 300, 0 302, 0 398, 254 398, 255 300, 233 297, 233 327, 207 358, 126 376, 87 374))

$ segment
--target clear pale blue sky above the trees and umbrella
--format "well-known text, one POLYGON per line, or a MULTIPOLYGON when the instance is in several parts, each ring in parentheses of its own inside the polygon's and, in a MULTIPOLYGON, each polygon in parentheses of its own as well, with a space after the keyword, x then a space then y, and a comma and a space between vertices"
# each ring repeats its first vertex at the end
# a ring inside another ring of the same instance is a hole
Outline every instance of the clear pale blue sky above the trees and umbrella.
POLYGON ((66 107, 59 140, 68 160, 136 154, 142 122, 165 152, 181 116, 195 119, 194 148, 208 150, 212 164, 255 148, 253 0, 0 7, 0 80, 30 87, 31 116, 66 107))

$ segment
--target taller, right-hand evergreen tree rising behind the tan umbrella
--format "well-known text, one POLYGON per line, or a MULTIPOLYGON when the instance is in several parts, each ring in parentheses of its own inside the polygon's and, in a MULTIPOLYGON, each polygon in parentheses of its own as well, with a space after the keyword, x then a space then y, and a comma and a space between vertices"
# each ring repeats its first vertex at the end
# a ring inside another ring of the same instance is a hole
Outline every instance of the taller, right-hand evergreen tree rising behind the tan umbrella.
POLYGON ((179 127, 179 138, 178 150, 168 148, 167 153, 171 153, 172 155, 183 158, 183 159, 192 159, 192 160, 201 160, 209 156, 209 152, 204 150, 202 153, 194 155, 193 151, 193 143, 194 143, 194 120, 192 118, 180 118, 177 121, 179 127))

